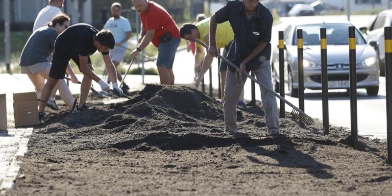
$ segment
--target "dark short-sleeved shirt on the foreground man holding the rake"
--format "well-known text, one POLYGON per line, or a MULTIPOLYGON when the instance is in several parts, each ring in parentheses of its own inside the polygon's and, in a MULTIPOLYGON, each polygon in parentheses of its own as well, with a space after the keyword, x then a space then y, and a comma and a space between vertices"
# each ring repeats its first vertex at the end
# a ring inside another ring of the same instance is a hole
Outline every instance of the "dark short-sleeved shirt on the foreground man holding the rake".
MULTIPOLYGON (((271 30, 272 15, 270 10, 259 2, 255 14, 246 19, 244 3, 240 0, 230 0, 227 4, 215 13, 218 24, 226 21, 230 22, 234 31, 234 43, 230 52, 235 52, 235 59, 229 59, 239 66, 241 61, 246 58, 257 47, 259 42, 267 42, 267 46, 254 59, 246 64, 246 70, 257 69, 263 62, 270 60, 271 56, 271 30)), ((234 68, 229 66, 234 71, 234 68)))

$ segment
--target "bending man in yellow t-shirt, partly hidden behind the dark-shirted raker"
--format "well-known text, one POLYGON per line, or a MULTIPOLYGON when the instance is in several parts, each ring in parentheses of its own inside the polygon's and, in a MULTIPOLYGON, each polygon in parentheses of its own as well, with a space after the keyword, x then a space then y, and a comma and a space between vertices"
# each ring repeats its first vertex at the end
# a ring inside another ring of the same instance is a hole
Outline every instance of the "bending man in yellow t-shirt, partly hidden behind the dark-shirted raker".
MULTIPOLYGON (((210 18, 206 18, 198 22, 196 25, 189 23, 184 24, 180 28, 180 36, 181 38, 189 41, 195 41, 196 39, 199 39, 200 41, 208 45, 210 40, 209 25, 210 18)), ((224 48, 223 56, 227 56, 229 59, 230 56, 235 58, 235 54, 228 54, 228 51, 230 50, 231 44, 233 43, 234 39, 234 32, 229 22, 218 25, 216 39, 218 49, 224 48)), ((207 55, 204 56, 204 48, 198 43, 196 43, 195 67, 197 70, 199 70, 199 74, 196 77, 196 84, 200 83, 204 73, 206 73, 207 70, 211 67, 212 60, 213 57, 210 54, 207 53, 207 55)), ((221 61, 219 71, 221 73, 222 100, 224 97, 226 70, 227 63, 221 61)), ((240 106, 245 107, 244 93, 242 93, 242 98, 240 98, 238 103, 240 106)))

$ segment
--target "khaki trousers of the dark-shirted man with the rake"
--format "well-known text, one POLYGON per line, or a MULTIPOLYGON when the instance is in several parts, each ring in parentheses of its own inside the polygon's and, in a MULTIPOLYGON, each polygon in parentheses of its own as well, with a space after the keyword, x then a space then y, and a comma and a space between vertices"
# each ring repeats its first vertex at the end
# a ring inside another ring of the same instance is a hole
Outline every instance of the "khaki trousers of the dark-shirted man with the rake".
MULTIPOLYGON (((255 74, 257 80, 273 90, 270 61, 264 62, 257 70, 252 72, 255 74)), ((238 130, 236 124, 236 107, 246 79, 247 77, 245 75, 240 76, 237 73, 236 78, 236 72, 232 72, 230 70, 227 71, 223 98, 223 114, 226 131, 236 132, 238 130), (243 81, 242 83, 241 79, 243 81)), ((260 92, 265 111, 268 133, 271 133, 271 131, 279 132, 279 116, 276 98, 268 91, 264 90, 261 86, 260 92)))

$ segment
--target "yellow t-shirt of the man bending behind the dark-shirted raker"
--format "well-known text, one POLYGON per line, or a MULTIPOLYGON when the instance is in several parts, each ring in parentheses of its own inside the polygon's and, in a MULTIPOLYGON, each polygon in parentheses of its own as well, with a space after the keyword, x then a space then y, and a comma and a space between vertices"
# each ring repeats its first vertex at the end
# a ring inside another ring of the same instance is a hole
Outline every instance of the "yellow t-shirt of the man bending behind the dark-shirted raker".
MULTIPOLYGON (((204 37, 210 33, 210 18, 206 18, 196 24, 197 29, 200 33, 199 40, 205 44, 204 37)), ((226 47, 234 39, 234 32, 228 21, 218 24, 216 41, 218 49, 226 47)), ((196 47, 200 45, 196 42, 196 47)))

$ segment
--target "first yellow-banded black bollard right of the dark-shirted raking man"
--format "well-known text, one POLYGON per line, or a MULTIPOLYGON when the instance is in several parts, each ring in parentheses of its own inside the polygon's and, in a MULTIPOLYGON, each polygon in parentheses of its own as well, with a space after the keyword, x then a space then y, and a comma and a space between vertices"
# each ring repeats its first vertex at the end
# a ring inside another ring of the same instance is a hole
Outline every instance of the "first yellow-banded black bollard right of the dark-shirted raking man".
MULTIPOLYGON (((285 44, 283 41, 283 31, 279 31, 279 94, 285 97, 285 44)), ((280 100, 280 118, 285 118, 285 102, 280 100)))

